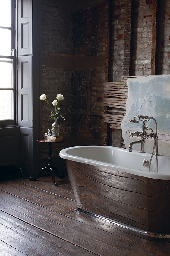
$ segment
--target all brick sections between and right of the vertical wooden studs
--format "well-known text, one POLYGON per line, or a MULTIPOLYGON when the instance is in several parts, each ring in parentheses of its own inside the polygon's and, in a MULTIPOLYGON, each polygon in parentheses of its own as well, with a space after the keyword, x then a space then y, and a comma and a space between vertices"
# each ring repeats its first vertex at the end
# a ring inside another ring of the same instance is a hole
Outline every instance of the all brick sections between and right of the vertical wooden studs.
MULTIPOLYGON (((112 51, 111 81, 120 81, 121 76, 128 75, 126 65, 126 10, 128 1, 112 1, 112 51), (123 63, 123 59, 125 60, 123 63), (123 72, 124 70, 124 72, 123 72)), ((132 53, 130 75, 142 76, 151 74, 152 15, 153 0, 132 1, 132 53)), ((156 74, 170 74, 170 2, 159 1, 158 6, 158 39, 156 74)), ((128 51, 129 52, 129 51, 128 51)), ((115 129, 109 131, 110 145, 121 145, 121 133, 115 129)))

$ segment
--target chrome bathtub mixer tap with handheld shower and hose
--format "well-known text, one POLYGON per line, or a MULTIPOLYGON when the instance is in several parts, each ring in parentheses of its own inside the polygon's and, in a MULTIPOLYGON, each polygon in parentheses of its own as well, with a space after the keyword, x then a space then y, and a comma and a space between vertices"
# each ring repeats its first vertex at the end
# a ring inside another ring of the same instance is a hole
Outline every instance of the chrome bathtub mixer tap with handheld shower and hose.
MULTIPOLYGON (((148 139, 148 138, 153 138, 154 139, 154 146, 153 146, 153 151, 152 151, 152 156, 151 156, 151 159, 150 159, 150 164, 151 164, 151 161, 152 161, 152 157, 153 157, 153 153, 154 153, 154 150, 155 150, 155 155, 156 155, 156 166, 157 166, 157 172, 158 172, 158 136, 157 136, 157 122, 155 120, 154 117, 149 117, 149 116, 134 116, 134 118, 132 120, 129 120, 129 122, 131 123, 139 123, 138 120, 136 119, 139 119, 140 121, 143 121, 143 126, 142 126, 142 132, 133 132, 133 133, 130 133, 130 136, 137 136, 137 137, 141 137, 141 140, 137 140, 137 141, 133 141, 130 143, 129 145, 129 152, 132 151, 132 146, 134 144, 138 144, 138 143, 141 143, 141 151, 140 153, 145 153, 144 152, 144 145, 145 145, 145 140, 148 139), (153 132, 153 130, 149 127, 146 127, 145 125, 145 122, 148 122, 150 119, 153 119, 155 121, 155 133, 153 132), (146 133, 146 130, 150 130, 151 133, 146 133)), ((149 171, 150 171, 150 165, 149 165, 149 171)))

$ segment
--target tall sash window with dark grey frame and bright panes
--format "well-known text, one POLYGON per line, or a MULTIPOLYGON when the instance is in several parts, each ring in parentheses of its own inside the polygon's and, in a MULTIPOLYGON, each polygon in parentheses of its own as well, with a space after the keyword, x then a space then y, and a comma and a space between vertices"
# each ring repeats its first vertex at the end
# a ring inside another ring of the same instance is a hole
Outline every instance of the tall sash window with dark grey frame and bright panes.
POLYGON ((0 0, 0 126, 16 124, 15 1, 0 0))

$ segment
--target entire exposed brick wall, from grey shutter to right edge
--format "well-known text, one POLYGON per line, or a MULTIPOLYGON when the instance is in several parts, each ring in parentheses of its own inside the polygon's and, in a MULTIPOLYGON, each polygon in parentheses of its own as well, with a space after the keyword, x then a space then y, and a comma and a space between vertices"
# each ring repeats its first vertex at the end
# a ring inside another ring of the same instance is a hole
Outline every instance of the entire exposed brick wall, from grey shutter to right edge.
MULTIPOLYGON (((129 0, 130 1, 130 0, 129 0)), ((112 0, 110 80, 120 81, 126 62, 128 0, 112 0)), ((131 75, 151 72, 153 0, 132 1, 131 75)), ((42 0, 41 91, 49 101, 65 96, 61 131, 66 142, 60 147, 103 144, 103 87, 106 68, 108 0, 42 0)), ((157 74, 169 74, 170 3, 159 1, 157 74)), ((126 67, 125 67, 126 66, 126 67)), ((48 106, 41 104, 42 136, 51 127, 48 106)), ((110 145, 120 146, 121 131, 110 130, 110 145)), ((58 154, 61 148, 54 149, 58 154)), ((46 151, 42 156, 46 157, 46 151)))

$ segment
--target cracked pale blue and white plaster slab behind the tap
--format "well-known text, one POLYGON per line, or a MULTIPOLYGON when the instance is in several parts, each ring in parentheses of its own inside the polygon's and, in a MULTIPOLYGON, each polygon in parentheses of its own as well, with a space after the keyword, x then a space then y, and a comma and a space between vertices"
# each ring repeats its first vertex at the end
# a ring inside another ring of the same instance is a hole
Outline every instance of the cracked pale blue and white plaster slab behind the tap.
MULTIPOLYGON (((122 136, 125 147, 137 137, 129 137, 129 132, 142 131, 143 122, 129 123, 136 115, 154 117, 158 124, 159 153, 170 156, 170 75, 150 75, 128 79, 128 100, 126 116, 122 121, 122 136)), ((153 120, 146 122, 146 126, 155 132, 153 120)), ((150 133, 148 130, 147 133, 150 133)), ((133 145, 132 150, 140 151, 140 144, 133 145)), ((146 139, 144 149, 151 153, 153 139, 146 139)))

